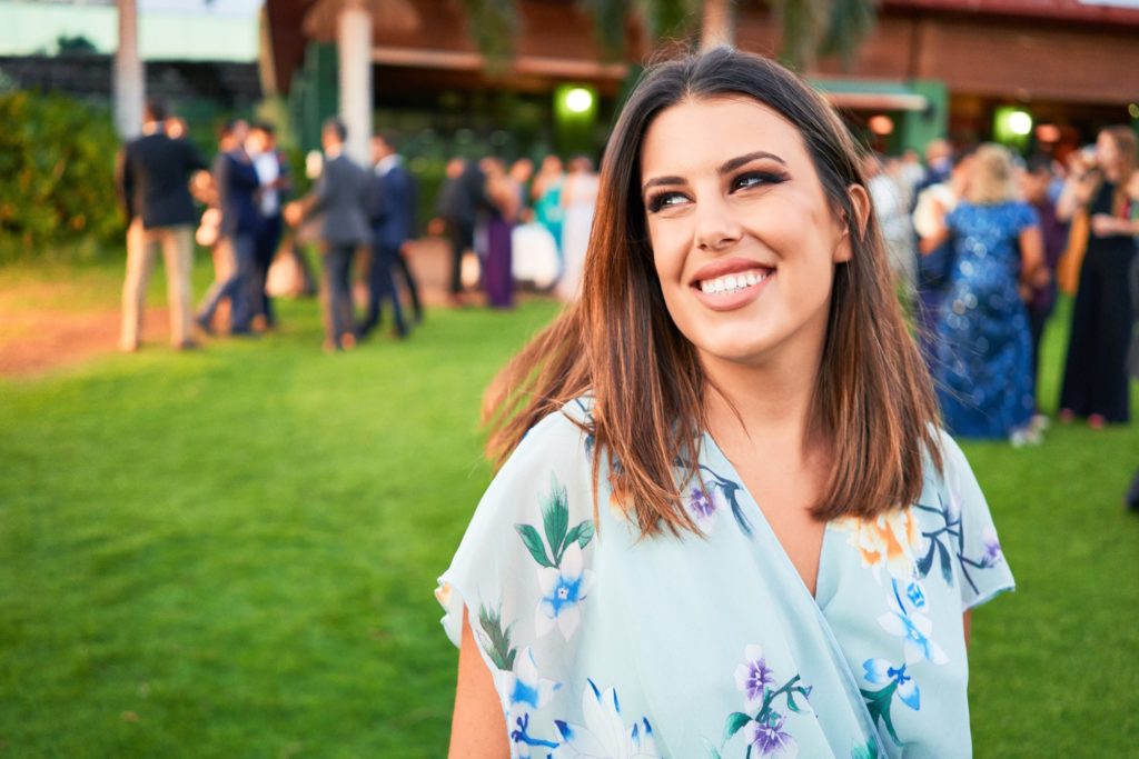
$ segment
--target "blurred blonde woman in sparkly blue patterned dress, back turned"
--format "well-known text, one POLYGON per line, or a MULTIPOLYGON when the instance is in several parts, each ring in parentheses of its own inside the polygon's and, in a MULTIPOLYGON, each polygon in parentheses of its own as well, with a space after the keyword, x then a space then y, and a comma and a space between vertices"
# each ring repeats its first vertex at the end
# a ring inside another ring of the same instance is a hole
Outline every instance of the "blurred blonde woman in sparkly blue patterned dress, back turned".
POLYGON ((1016 199, 1008 150, 975 154, 964 203, 932 249, 952 237, 954 262, 936 324, 934 377, 943 423, 970 438, 1033 439, 1032 335, 1022 295, 1047 284, 1036 212, 1016 199), (1044 281, 1041 281, 1044 278, 1044 281))

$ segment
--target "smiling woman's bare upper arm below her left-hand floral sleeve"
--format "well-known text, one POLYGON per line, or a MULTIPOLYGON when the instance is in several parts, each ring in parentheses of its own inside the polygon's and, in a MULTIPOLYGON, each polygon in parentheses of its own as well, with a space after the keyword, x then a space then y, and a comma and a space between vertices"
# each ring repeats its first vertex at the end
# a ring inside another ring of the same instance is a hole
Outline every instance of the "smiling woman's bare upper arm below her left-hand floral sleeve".
POLYGON ((467 614, 459 645, 459 682, 451 718, 450 759, 505 759, 510 756, 506 719, 490 669, 478 652, 467 614))

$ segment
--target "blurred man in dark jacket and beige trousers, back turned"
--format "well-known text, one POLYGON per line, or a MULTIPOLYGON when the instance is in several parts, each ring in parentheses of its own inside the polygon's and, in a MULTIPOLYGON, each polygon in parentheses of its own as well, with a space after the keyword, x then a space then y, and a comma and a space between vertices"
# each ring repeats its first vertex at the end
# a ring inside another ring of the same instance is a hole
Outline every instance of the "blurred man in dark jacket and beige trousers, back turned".
POLYGON ((157 100, 148 101, 142 137, 126 143, 118 155, 116 184, 130 224, 118 341, 125 352, 139 347, 156 246, 162 246, 166 262, 171 341, 179 349, 195 347, 190 338, 190 267, 198 215, 189 181, 206 168, 206 162, 188 140, 167 137, 163 131, 165 121, 165 107, 157 100))

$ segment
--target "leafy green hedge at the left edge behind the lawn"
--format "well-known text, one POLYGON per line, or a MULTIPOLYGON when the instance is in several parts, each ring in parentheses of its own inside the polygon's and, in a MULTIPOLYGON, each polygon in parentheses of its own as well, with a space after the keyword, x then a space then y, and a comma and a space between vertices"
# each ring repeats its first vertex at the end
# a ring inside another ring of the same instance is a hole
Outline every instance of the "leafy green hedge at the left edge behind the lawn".
POLYGON ((91 257, 121 246, 118 146, 106 108, 0 92, 0 261, 91 257))

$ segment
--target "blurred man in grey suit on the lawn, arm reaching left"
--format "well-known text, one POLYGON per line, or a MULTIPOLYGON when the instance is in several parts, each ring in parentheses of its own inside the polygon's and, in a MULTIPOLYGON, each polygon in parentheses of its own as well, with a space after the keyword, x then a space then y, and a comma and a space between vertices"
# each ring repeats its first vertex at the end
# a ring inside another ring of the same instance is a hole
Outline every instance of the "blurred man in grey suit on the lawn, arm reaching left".
POLYGON ((325 264, 321 290, 325 303, 325 349, 355 346, 352 308, 352 258, 358 246, 368 241, 368 172, 344 155, 347 130, 336 118, 325 122, 320 142, 325 163, 320 179, 304 198, 285 208, 292 225, 312 218, 320 238, 325 264))

